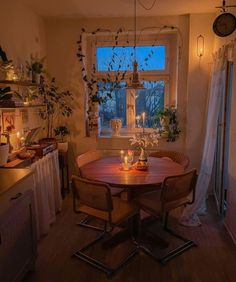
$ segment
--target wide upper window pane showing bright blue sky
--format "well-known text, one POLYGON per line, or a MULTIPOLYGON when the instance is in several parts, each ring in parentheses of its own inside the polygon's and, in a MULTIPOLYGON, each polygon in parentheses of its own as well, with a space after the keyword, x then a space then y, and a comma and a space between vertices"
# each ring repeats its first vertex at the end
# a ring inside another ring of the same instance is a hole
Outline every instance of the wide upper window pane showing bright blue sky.
MULTIPOLYGON (((134 46, 97 47, 98 71, 130 71, 134 61, 134 46)), ((165 70, 166 46, 137 46, 139 71, 165 70)))

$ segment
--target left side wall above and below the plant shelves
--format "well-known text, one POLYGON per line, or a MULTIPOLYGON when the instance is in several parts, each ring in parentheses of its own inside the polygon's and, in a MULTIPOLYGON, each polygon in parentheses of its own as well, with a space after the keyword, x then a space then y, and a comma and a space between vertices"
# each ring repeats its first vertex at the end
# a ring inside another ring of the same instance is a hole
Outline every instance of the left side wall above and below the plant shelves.
MULTIPOLYGON (((0 45, 16 67, 25 64, 30 54, 39 57, 45 55, 44 22, 39 16, 17 1, 1 0, 0 19, 0 45)), ((36 109, 16 112, 16 132, 23 127, 33 128, 40 124, 41 119, 36 109)), ((13 145, 16 143, 15 135, 11 136, 13 145)))

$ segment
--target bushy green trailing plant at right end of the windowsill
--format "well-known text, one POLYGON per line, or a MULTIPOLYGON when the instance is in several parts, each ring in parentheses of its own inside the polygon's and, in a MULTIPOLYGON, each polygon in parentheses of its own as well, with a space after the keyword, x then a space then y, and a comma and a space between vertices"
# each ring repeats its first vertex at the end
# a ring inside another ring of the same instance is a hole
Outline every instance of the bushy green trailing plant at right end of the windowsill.
POLYGON ((161 137, 167 138, 167 142, 174 142, 181 132, 177 119, 176 108, 171 106, 157 112, 157 118, 160 121, 161 128, 159 133, 161 137))

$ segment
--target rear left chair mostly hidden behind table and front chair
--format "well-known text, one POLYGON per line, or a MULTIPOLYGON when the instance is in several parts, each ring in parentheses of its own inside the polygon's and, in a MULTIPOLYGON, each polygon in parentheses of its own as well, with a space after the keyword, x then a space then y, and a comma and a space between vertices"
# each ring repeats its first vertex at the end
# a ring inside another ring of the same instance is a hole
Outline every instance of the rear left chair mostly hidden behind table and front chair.
MULTIPOLYGON (((99 160, 101 157, 102 157, 102 151, 99 151, 99 150, 96 150, 96 149, 90 150, 90 151, 88 151, 86 153, 83 153, 83 154, 79 155, 76 158, 76 166, 78 168, 78 176, 82 177, 82 178, 84 177, 83 176, 83 172, 81 170, 82 166, 84 166, 84 165, 86 165, 86 164, 88 164, 90 162, 99 160)), ((120 189, 120 188, 112 188, 112 187, 110 187, 110 189, 111 189, 112 196, 120 196, 120 194, 124 191, 124 189, 120 189)), ((74 211, 78 212, 78 210, 76 210, 76 207, 75 207, 75 201, 74 201, 74 211)), ((95 229, 95 230, 101 230, 101 228, 89 224, 90 220, 91 220, 91 217, 87 216, 86 218, 81 220, 78 223, 78 225, 80 225, 82 227, 86 227, 86 228, 95 229)))

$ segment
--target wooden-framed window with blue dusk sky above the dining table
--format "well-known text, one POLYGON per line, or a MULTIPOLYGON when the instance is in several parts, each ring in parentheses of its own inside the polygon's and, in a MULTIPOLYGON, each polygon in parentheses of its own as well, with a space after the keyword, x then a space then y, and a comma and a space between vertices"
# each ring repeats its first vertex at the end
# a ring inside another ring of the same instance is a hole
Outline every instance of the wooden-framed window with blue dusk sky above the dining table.
POLYGON ((136 46, 136 52, 125 36, 118 44, 108 38, 96 36, 93 42, 92 63, 96 66, 98 93, 100 96, 106 96, 107 91, 111 94, 111 99, 100 107, 102 131, 109 131, 113 118, 122 120, 124 132, 138 131, 142 126, 140 116, 143 112, 146 115, 145 127, 155 127, 158 110, 176 104, 177 34, 161 34, 158 39, 157 35, 147 34, 136 46), (126 87, 135 59, 144 89, 126 87))

